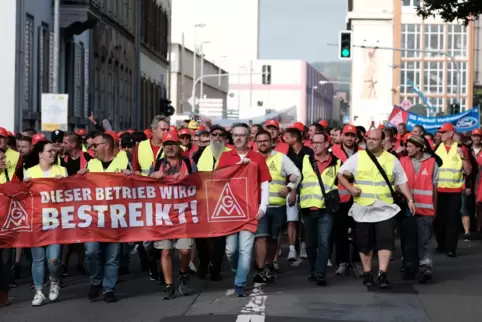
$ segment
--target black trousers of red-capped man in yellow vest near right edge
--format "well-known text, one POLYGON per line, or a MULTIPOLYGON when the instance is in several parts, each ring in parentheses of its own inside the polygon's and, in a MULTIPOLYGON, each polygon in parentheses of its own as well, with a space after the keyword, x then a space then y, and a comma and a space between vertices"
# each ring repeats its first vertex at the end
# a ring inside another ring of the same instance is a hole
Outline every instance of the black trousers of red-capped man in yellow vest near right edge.
POLYGON ((439 192, 437 200, 437 216, 433 227, 438 249, 445 252, 456 252, 461 225, 460 192, 439 192))

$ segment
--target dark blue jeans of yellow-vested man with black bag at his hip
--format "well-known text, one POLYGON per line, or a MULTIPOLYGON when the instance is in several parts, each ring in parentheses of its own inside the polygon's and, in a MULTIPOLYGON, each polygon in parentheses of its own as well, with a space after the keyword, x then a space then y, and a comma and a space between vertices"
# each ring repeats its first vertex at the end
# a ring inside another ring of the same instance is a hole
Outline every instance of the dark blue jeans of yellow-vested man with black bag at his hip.
POLYGON ((310 273, 324 275, 330 257, 333 215, 325 209, 303 209, 303 223, 310 273))

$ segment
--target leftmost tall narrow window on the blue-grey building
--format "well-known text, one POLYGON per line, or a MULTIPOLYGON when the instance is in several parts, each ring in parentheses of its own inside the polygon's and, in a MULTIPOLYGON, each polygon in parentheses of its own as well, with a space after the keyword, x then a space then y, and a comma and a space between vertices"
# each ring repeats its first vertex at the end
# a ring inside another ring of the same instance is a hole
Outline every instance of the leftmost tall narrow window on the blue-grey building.
POLYGON ((25 19, 24 35, 24 91, 23 109, 33 112, 33 43, 34 43, 34 20, 27 14, 25 19))

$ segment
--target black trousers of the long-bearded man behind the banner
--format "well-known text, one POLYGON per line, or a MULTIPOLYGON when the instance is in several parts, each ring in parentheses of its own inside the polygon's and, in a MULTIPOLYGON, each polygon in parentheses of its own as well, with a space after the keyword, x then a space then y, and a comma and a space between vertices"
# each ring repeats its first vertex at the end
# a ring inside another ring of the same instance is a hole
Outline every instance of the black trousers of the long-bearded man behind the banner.
POLYGON ((211 275, 219 275, 226 249, 226 237, 196 238, 195 241, 199 255, 198 274, 205 277, 209 264, 212 264, 211 275))

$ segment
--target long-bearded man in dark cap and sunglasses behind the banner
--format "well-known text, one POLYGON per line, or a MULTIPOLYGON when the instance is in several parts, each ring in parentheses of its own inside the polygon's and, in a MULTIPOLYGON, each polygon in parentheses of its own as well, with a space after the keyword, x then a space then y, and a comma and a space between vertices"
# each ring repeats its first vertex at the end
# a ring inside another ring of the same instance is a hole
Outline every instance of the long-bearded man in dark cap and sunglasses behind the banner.
MULTIPOLYGON (((227 133, 224 127, 213 125, 210 129, 211 143, 204 148, 199 159, 197 160, 198 171, 213 171, 221 154, 230 151, 226 147, 227 133)), ((197 157, 196 157, 197 158, 197 157)), ((193 159, 196 159, 193 157, 193 159)), ((196 238, 196 248, 199 255, 198 276, 201 279, 206 278, 208 273, 211 275, 212 281, 221 280, 221 266, 224 257, 225 237, 213 238, 196 238), (211 266, 209 266, 211 264, 211 266)))

